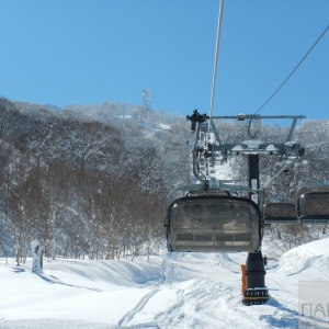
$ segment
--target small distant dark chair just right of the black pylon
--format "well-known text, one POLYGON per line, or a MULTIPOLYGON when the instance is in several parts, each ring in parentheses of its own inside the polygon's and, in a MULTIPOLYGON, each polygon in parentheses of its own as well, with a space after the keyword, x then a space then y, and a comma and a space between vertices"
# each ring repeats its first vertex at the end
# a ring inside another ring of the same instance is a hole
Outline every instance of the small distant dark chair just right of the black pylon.
POLYGON ((295 224, 297 223, 296 206, 294 203, 266 203, 263 208, 265 224, 295 224))

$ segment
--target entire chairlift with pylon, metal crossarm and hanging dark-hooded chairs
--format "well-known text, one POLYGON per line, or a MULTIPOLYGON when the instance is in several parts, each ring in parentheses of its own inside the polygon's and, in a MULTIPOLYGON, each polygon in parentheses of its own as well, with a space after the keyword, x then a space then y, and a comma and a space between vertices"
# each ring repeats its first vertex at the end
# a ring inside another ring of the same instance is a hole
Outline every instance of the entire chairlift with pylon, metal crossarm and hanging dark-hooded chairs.
MULTIPOLYGON (((322 215, 321 218, 300 216, 300 206, 297 207, 296 202, 280 201, 276 203, 266 203, 263 197, 263 190, 260 190, 260 155, 276 155, 280 157, 281 161, 285 161, 286 163, 291 163, 298 157, 304 156, 304 148, 292 138, 297 120, 305 118, 305 116, 260 116, 254 114, 213 116, 209 118, 209 123, 207 123, 206 121, 208 118, 209 117, 205 114, 200 115, 196 110, 192 116, 188 116, 188 120, 192 121, 192 131, 196 133, 192 162, 193 174, 196 178, 197 183, 175 189, 167 197, 164 230, 168 249, 170 251, 196 252, 247 251, 247 290, 243 292, 242 303, 245 305, 262 304, 269 298, 268 288, 264 285, 265 271, 261 253, 261 241, 265 225, 329 224, 329 216, 328 218, 324 218, 322 215), (246 143, 237 145, 235 143, 223 143, 214 124, 214 120, 229 118, 238 118, 239 121, 249 120, 249 125, 251 124, 251 121, 256 118, 259 121, 261 118, 291 118, 292 125, 287 132, 286 138, 282 143, 258 140, 254 139, 254 136, 249 135, 250 138, 246 143), (215 141, 212 144, 207 140, 211 131, 215 136, 215 141), (240 154, 247 156, 249 188, 241 186, 241 184, 237 184, 236 182, 224 183, 213 180, 209 167, 215 154, 219 155, 219 158, 223 161, 240 154), (203 168, 201 167, 201 162, 203 162, 203 168), (231 213, 228 211, 230 205, 231 213), (245 217, 245 222, 248 222, 248 219, 246 219, 248 217, 248 209, 253 212, 253 217, 251 217, 252 219, 249 222, 249 230, 238 230, 239 224, 242 222, 232 224, 234 217, 238 217, 238 211, 235 209, 235 207, 238 208, 239 205, 241 205, 241 208, 245 206, 245 213, 241 216, 245 217), (213 207, 215 211, 211 212, 211 215, 205 215, 206 212, 198 209, 202 206, 204 206, 204 208, 213 207), (271 207, 272 213, 269 212, 271 207), (284 209, 284 207, 286 207, 286 209, 284 209), (198 214, 196 209, 198 209, 198 214), (225 216, 227 217, 225 218, 225 216), (226 223, 230 223, 231 227, 236 228, 236 231, 225 229, 224 225, 226 223), (197 237, 197 235, 200 235, 200 237, 197 237), (242 241, 239 240, 239 238, 236 239, 236 236, 239 235, 240 237, 243 237, 242 241), (237 243, 235 245, 235 242, 237 243)), ((329 188, 327 190, 329 191, 329 188)), ((311 193, 313 194, 306 195, 320 195, 319 192, 311 193)), ((324 193, 329 200, 329 192, 324 193)), ((327 214, 325 215, 327 216, 327 214)))

